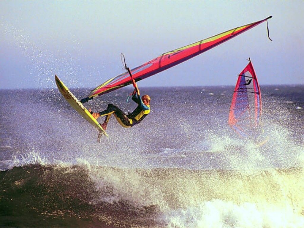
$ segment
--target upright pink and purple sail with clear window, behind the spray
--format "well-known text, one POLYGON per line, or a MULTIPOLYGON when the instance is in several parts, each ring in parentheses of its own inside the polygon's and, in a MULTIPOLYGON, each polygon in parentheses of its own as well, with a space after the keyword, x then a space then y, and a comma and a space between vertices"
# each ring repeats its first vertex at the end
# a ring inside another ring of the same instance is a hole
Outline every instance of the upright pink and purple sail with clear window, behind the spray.
POLYGON ((233 91, 228 124, 240 135, 248 136, 257 128, 262 114, 262 98, 253 65, 249 63, 238 75, 233 91))

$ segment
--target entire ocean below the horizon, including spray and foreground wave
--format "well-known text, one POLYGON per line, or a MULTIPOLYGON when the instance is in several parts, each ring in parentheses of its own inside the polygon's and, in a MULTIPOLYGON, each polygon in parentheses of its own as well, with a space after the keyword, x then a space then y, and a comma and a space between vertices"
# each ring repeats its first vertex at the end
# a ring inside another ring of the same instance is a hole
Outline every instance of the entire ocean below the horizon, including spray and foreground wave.
POLYGON ((227 124, 233 89, 141 88, 150 114, 101 143, 57 88, 0 90, 0 227, 304 227, 304 85, 261 85, 260 146, 227 124))

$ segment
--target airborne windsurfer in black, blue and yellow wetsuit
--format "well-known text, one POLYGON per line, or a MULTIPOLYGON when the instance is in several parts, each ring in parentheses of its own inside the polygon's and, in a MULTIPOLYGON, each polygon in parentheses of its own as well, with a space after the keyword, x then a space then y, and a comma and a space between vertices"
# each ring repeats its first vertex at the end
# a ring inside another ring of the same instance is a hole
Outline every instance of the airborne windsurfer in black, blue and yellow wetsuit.
POLYGON ((101 124, 104 130, 106 130, 107 124, 112 114, 116 117, 118 123, 121 126, 129 128, 136 124, 139 124, 150 113, 150 96, 143 95, 140 98, 139 89, 133 78, 132 83, 135 88, 132 100, 138 104, 138 106, 132 113, 126 115, 122 110, 120 110, 117 106, 113 104, 109 104, 107 109, 102 112, 92 112, 91 110, 89 110, 95 119, 99 118, 100 116, 106 116, 104 123, 101 124))

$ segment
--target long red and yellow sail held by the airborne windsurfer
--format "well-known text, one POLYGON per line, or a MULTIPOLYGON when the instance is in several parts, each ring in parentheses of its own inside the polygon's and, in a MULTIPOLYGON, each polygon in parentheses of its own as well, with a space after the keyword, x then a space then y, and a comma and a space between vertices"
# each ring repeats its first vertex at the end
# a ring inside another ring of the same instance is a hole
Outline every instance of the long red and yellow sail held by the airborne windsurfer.
MULTIPOLYGON (((218 35, 211 36, 207 39, 200 40, 196 43, 189 44, 185 47, 180 47, 178 49, 166 52, 140 65, 139 67, 133 68, 131 70, 132 77, 135 79, 135 81, 139 81, 154 74, 157 74, 161 71, 164 71, 170 67, 180 64, 188 59, 191 59, 192 57, 195 57, 213 47, 216 47, 217 45, 224 43, 227 40, 230 40, 241 33, 244 33, 248 29, 251 29, 254 26, 257 26, 258 24, 267 21, 271 17, 272 16, 269 16, 268 18, 265 18, 261 21, 236 27, 218 35)), ((105 81, 104 83, 93 89, 88 95, 88 99, 92 99, 93 97, 100 96, 102 94, 111 92, 115 89, 130 84, 131 78, 129 73, 126 71, 123 74, 110 78, 109 80, 105 81)))

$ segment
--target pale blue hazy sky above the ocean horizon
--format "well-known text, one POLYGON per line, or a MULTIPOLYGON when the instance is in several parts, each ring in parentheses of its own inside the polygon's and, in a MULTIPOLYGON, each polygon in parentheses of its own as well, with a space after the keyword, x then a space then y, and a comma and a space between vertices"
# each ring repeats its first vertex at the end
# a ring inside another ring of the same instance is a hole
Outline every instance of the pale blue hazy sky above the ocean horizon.
POLYGON ((95 88, 167 51, 266 22, 138 82, 235 85, 250 57, 260 85, 304 84, 304 1, 0 1, 0 89, 95 88))

